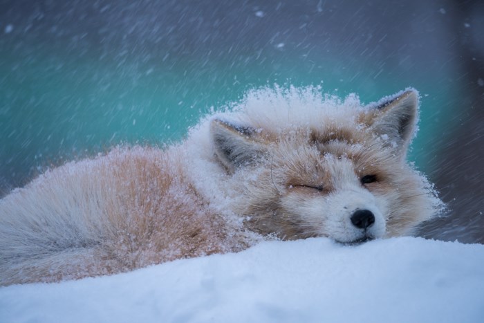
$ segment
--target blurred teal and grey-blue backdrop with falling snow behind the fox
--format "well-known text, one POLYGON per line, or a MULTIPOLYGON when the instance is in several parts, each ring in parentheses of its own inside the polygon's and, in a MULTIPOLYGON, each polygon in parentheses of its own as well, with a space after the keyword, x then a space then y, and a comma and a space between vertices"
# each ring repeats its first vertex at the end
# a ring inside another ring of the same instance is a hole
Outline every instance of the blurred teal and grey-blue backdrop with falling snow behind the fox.
POLYGON ((427 238, 484 243, 484 1, 0 0, 0 196, 123 142, 180 140, 248 89, 369 103, 413 86, 409 159, 447 216, 427 238))

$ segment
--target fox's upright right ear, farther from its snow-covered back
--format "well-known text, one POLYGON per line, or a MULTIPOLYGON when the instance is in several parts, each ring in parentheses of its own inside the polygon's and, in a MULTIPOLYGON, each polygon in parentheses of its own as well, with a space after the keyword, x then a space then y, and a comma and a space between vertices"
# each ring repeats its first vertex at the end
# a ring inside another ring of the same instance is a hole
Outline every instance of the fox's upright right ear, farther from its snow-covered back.
POLYGON ((407 89, 375 104, 371 128, 387 137, 393 146, 396 144, 404 156, 416 130, 417 117, 418 92, 407 89))

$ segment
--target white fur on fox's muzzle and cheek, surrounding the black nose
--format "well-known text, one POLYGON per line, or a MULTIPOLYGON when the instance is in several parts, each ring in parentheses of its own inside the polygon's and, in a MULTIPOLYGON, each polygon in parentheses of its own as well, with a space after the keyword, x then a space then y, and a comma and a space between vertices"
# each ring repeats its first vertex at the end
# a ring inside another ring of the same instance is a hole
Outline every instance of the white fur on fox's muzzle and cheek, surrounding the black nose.
POLYGON ((281 198, 285 212, 297 214, 298 225, 306 234, 331 237, 339 242, 384 237, 387 205, 362 187, 351 160, 326 156, 324 167, 331 169, 331 192, 317 192, 311 187, 289 187, 281 198), (351 216, 357 210, 369 210, 375 223, 369 228, 357 228, 351 216))

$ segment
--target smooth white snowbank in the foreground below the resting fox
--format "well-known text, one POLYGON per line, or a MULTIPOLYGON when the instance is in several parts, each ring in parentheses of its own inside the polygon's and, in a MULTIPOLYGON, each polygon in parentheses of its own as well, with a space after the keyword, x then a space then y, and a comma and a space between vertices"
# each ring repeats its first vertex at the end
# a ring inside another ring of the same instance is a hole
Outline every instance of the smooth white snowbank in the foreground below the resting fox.
POLYGON ((0 288, 1 322, 483 322, 484 246, 272 241, 109 277, 0 288))

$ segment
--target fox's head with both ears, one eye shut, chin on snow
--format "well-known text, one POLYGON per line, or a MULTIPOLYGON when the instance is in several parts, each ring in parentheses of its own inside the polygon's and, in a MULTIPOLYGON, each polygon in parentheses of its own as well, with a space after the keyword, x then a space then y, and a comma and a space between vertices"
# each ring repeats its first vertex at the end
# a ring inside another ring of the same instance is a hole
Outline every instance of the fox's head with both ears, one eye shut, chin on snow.
POLYGON ((263 118, 212 120, 216 159, 241 188, 237 212, 250 229, 281 239, 352 243, 411 233, 438 205, 406 162, 418 92, 333 110, 279 129, 263 118))

